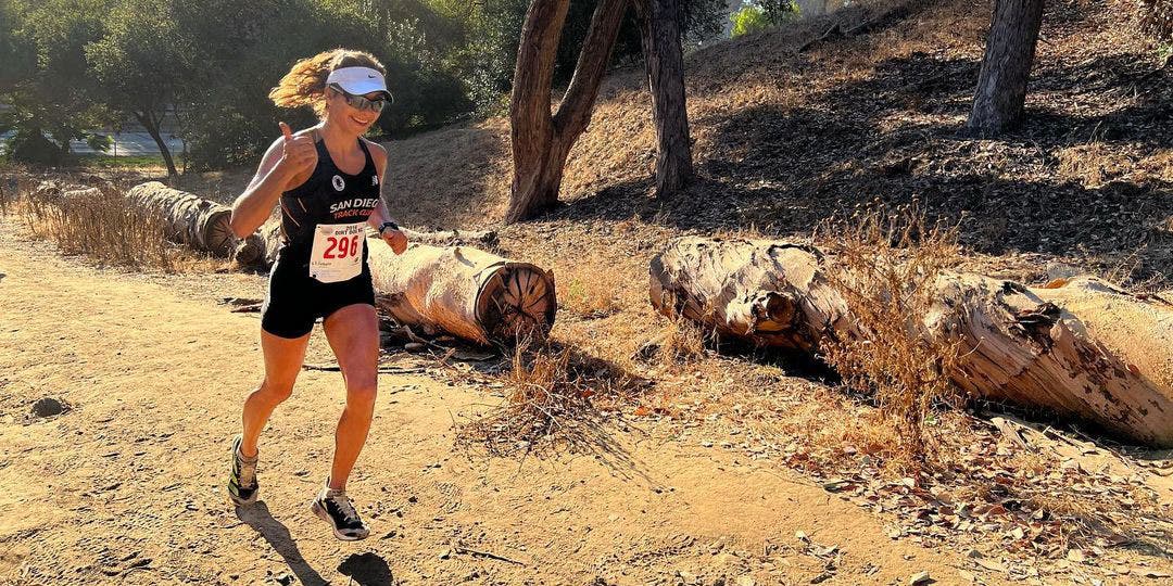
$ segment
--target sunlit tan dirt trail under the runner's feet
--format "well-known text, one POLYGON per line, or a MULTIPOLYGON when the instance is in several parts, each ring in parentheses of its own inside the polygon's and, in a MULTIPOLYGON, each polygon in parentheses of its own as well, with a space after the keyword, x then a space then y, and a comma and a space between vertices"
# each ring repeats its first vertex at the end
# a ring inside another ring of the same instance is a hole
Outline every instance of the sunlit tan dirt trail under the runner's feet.
POLYGON ((425 376, 380 377, 351 484, 371 539, 334 540, 307 506, 335 373, 301 374, 263 437, 263 500, 233 511, 226 442, 260 368, 256 316, 11 237, 0 273, 0 584, 807 584, 827 563, 796 531, 839 547, 823 584, 961 580, 958 553, 894 541, 734 454, 616 431, 601 457, 469 458, 450 413, 497 398, 425 376), (41 396, 72 410, 34 420, 41 396))

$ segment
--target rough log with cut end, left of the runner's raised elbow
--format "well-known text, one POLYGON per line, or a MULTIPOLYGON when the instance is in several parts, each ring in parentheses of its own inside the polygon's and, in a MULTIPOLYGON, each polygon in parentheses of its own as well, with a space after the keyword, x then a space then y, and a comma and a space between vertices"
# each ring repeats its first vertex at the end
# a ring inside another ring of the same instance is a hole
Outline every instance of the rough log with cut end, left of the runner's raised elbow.
POLYGON ((160 182, 135 185, 127 193, 127 199, 133 205, 157 212, 169 240, 216 257, 231 257, 236 251, 237 238, 229 226, 232 210, 225 205, 160 182))

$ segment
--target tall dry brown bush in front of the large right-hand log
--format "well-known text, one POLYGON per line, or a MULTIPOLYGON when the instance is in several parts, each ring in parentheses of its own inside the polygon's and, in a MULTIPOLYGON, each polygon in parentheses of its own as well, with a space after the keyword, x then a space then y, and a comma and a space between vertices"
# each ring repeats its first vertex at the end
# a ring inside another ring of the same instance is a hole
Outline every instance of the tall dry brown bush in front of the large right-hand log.
POLYGON ((857 333, 828 343, 825 359, 845 386, 875 397, 913 461, 923 461, 935 443, 925 417, 956 394, 945 373, 956 367, 960 345, 940 342, 921 320, 937 301, 937 277, 961 260, 956 230, 929 226, 915 207, 903 207, 872 209, 825 232, 836 236, 828 248, 838 270, 827 274, 857 333))

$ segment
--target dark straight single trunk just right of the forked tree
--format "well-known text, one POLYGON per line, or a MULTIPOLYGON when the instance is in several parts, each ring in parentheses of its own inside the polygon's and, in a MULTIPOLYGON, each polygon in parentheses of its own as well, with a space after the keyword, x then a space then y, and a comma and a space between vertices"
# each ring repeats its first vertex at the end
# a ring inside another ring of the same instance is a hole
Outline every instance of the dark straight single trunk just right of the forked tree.
POLYGON ((636 7, 656 124, 656 196, 662 197, 683 188, 692 177, 680 0, 636 0, 636 7))

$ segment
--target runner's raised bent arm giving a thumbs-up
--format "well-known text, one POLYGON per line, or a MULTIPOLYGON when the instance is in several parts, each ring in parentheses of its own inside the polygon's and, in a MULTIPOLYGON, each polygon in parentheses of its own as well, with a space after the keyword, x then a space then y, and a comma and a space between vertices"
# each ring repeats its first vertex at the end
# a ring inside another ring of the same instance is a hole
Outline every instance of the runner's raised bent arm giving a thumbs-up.
POLYGON ((232 203, 232 217, 229 225, 237 238, 245 238, 257 231, 269 219, 277 199, 287 191, 299 176, 312 171, 318 164, 318 150, 313 135, 306 132, 293 136, 287 125, 282 122, 282 138, 265 151, 257 173, 252 176, 249 186, 232 203))

